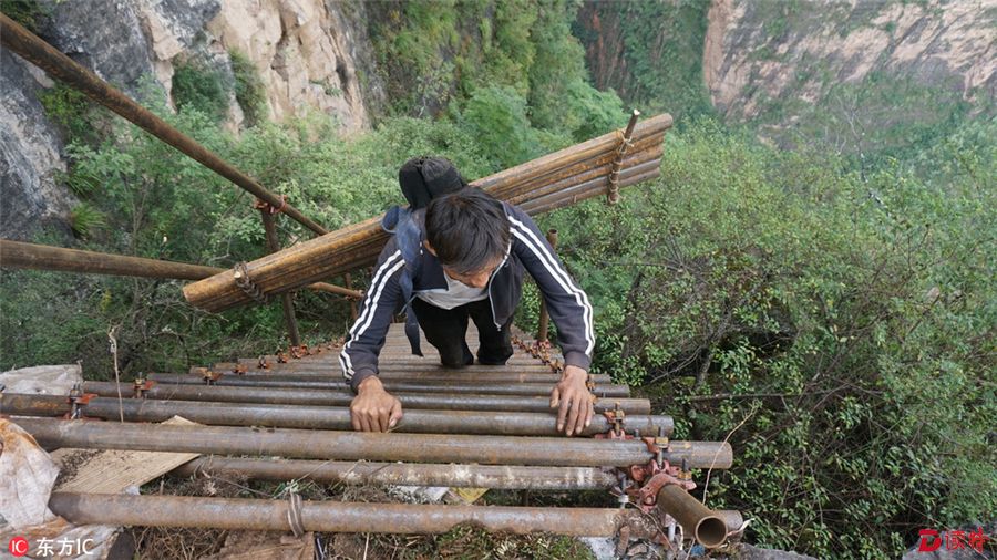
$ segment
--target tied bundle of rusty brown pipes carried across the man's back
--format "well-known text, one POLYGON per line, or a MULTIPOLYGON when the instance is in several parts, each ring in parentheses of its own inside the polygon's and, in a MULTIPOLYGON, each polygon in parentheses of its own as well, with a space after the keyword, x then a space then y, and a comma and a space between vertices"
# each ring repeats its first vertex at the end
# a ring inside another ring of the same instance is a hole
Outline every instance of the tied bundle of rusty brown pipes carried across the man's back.
MULTIPOLYGON (((636 112, 635 112, 636 113, 636 112)), ((473 182, 490 195, 518 205, 531 215, 613 195, 618 188, 657 177, 665 132, 671 116, 661 114, 626 129, 577 144, 473 182)), ((184 287, 187 301, 207 311, 251 303, 248 280, 266 295, 285 293, 374 262, 388 240, 380 217, 326 234, 184 287)))

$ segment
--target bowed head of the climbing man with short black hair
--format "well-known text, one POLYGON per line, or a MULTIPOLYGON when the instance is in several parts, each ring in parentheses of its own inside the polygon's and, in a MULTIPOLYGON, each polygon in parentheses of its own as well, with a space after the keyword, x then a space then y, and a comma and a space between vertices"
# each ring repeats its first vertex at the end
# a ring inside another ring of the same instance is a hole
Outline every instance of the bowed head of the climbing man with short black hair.
POLYGON ((508 218, 502 203, 464 188, 430 201, 425 237, 446 276, 484 288, 508 249, 508 218))

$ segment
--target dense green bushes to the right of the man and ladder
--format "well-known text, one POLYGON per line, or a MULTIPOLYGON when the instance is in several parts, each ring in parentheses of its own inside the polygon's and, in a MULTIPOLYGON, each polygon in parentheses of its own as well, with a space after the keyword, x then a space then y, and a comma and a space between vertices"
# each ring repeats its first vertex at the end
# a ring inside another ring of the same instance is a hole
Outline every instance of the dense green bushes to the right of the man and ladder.
POLYGON ((995 132, 923 153, 931 176, 862 177, 706 121, 620 208, 549 220, 598 309, 598 369, 680 436, 730 437, 710 499, 762 542, 895 557, 997 510, 995 132))

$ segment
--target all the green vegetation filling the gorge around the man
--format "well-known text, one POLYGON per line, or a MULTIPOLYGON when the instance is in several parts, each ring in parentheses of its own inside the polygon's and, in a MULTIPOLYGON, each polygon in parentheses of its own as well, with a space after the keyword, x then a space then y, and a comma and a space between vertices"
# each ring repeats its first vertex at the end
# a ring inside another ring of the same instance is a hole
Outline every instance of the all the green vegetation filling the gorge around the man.
MULTIPOLYGON (((662 6, 643 17, 701 23, 700 4, 662 6)), ((340 139, 322 115, 222 132, 215 100, 229 91, 260 114, 245 64, 222 93, 209 70, 178 70, 178 114, 153 87, 143 100, 329 228, 399 203, 397 168, 413 155, 445 155, 473 178, 626 120, 619 97, 587 81, 572 3, 372 9, 391 106, 361 137, 340 139)), ((629 31, 631 68, 643 68, 648 29, 629 31)), ((675 41, 662 52, 693 72, 690 39, 675 41)), ((880 131, 891 149, 856 162, 828 156, 820 135, 780 151, 726 126, 695 72, 681 83, 650 66, 641 75, 630 101, 689 115, 666 141, 662 176, 617 207, 543 219, 596 305, 596 367, 674 414, 679 437, 729 438, 734 468, 710 475, 709 500, 756 519, 756 543, 893 558, 921 528, 991 520, 997 122, 955 112, 915 135, 916 120, 900 123, 880 131)), ((65 183, 82 200, 78 247, 220 267, 261 255, 248 195, 70 92, 43 102, 74 141, 65 183)), ((308 237, 287 220, 281 236, 308 237)), ((273 305, 207 314, 178 288, 4 271, 0 365, 82 360, 88 376, 105 377, 113 326, 125 375, 285 343, 273 305)), ((520 326, 533 328, 536 308, 531 292, 520 326)), ((312 341, 347 326, 341 300, 301 292, 297 309, 312 341)))

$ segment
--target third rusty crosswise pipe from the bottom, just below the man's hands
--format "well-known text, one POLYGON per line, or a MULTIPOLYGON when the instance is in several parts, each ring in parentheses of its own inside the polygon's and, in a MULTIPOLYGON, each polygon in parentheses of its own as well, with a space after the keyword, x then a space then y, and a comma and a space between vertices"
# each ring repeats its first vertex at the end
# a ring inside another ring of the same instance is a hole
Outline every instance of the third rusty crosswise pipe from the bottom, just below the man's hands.
MULTIPOLYGON (((625 467, 645 464, 655 456, 643 439, 382 434, 21 417, 13 422, 49 448, 564 467, 625 467)), ((685 460, 689 468, 729 468, 732 452, 726 443, 670 442, 662 458, 675 465, 685 460)))

